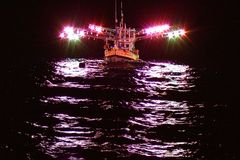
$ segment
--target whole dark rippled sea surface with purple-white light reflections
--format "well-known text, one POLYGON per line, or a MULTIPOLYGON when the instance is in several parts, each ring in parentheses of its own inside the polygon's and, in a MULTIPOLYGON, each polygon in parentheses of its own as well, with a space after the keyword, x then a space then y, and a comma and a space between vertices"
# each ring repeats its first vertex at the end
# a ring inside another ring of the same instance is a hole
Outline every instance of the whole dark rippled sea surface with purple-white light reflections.
POLYGON ((224 73, 171 61, 102 63, 39 59, 7 68, 0 159, 239 158, 235 82, 224 73))

